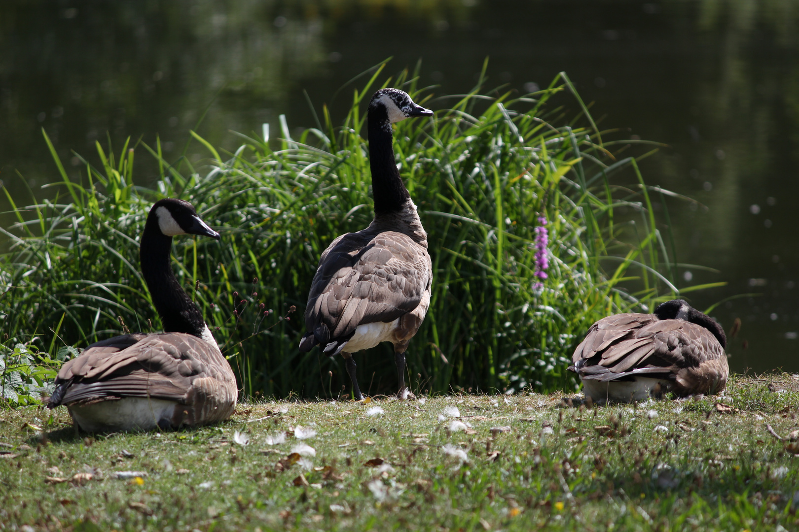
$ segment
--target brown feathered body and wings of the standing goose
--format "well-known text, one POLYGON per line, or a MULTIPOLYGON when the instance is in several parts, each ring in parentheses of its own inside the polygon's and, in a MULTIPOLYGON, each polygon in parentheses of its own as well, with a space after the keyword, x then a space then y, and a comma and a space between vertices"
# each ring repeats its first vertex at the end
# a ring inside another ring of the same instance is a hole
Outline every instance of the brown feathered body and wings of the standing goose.
POLYGON ((411 312, 430 286, 427 250, 395 231, 359 231, 336 238, 313 278, 305 325, 327 325, 331 339, 363 323, 394 321, 411 312))

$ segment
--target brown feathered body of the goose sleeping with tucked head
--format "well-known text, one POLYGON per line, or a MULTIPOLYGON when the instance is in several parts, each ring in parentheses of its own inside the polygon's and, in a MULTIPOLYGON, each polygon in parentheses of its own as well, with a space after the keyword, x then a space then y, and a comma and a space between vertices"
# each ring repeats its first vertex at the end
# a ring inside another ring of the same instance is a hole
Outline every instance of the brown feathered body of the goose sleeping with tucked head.
POLYGON ((660 376, 674 380, 678 395, 720 390, 729 374, 724 348, 710 331, 652 314, 602 318, 590 327, 572 360, 583 379, 660 376))

